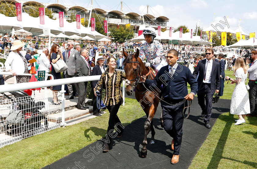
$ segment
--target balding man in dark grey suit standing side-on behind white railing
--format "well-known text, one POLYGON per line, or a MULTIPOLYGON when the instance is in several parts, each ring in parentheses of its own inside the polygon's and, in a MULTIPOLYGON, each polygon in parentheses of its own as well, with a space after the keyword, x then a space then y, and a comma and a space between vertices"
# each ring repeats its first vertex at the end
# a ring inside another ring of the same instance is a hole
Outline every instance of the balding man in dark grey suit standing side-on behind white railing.
MULTIPOLYGON (((80 56, 76 59, 76 76, 90 76, 91 74, 91 67, 87 62, 88 58, 88 50, 85 48, 82 48, 80 50, 80 56)), ((88 82, 80 82, 78 83, 79 86, 79 98, 78 98, 78 104, 77 109, 85 110, 88 109, 88 106, 85 106, 85 99, 87 96, 88 91, 88 82)))

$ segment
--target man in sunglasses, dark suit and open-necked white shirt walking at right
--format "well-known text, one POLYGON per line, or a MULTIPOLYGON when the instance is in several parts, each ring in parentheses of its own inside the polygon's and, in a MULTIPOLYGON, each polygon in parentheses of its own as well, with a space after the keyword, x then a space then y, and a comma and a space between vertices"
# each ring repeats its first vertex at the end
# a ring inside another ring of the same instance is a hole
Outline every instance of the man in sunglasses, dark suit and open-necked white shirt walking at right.
POLYGON ((206 128, 210 128, 210 116, 212 109, 212 98, 214 93, 218 93, 220 90, 220 65, 212 60, 214 55, 213 49, 206 49, 206 59, 200 60, 193 72, 193 76, 197 78, 198 92, 197 99, 198 104, 202 109, 202 117, 204 117, 204 123, 206 128), (206 102, 206 104, 204 104, 206 102))

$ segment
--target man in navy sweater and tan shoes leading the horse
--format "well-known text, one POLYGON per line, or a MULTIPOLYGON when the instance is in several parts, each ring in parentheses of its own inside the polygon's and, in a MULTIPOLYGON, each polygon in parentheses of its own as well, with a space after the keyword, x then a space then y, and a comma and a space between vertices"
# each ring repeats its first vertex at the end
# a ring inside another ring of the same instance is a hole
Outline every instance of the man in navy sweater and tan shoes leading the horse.
MULTIPOLYGON (((166 60, 168 65, 158 71, 154 80, 146 79, 144 76, 144 81, 147 87, 159 88, 162 85, 162 99, 164 102, 161 106, 164 130, 173 138, 171 142, 173 156, 170 162, 176 164, 179 160, 183 134, 184 117, 182 113, 184 112, 182 111, 184 99, 188 101, 194 99, 197 92, 197 82, 188 67, 177 64, 178 53, 176 50, 169 50, 166 60), (191 88, 189 94, 187 83, 191 88)), ((187 102, 185 102, 185 106, 187 106, 187 102)))

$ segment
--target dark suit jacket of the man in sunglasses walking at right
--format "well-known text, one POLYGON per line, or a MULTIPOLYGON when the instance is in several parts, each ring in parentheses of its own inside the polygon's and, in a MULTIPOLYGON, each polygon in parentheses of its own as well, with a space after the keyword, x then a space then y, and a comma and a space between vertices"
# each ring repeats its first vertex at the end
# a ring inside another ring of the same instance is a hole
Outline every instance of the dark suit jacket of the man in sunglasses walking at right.
MULTIPOLYGON (((202 88, 202 85, 203 85, 205 64, 206 64, 206 59, 200 60, 193 72, 193 76, 195 78, 199 73, 199 76, 197 79, 198 91, 202 88)), ((220 65, 215 61, 212 62, 210 89, 213 93, 215 93, 215 90, 220 90, 220 65)))

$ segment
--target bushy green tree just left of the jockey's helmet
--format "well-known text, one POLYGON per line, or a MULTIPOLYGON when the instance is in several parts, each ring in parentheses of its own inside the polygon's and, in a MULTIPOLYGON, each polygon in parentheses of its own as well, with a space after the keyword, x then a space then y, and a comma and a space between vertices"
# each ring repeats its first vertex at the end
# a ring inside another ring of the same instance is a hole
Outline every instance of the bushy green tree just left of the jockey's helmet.
POLYGON ((119 43, 123 43, 127 39, 132 39, 134 35, 133 26, 125 27, 120 25, 119 28, 114 26, 109 28, 109 31, 114 37, 113 41, 118 41, 119 43))

